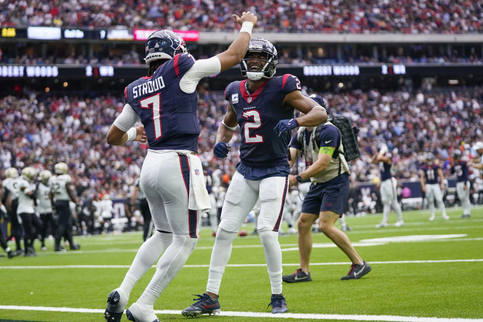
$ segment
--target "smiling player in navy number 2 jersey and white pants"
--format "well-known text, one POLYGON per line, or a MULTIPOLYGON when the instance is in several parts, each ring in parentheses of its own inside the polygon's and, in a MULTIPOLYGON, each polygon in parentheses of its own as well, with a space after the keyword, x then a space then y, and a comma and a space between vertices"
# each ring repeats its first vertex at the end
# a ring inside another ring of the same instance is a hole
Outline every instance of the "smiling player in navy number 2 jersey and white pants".
POLYGON ((241 61, 241 82, 225 89, 227 112, 218 127, 213 154, 223 158, 237 125, 241 128, 240 162, 226 192, 221 222, 211 253, 206 293, 182 311, 185 316, 219 312, 218 293, 223 272, 231 255, 234 237, 247 214, 260 199, 257 230, 265 251, 272 286, 272 313, 287 311, 282 295, 282 252, 278 231, 288 190, 287 146, 291 129, 316 126, 327 120, 323 107, 301 93, 300 81, 291 74, 274 77, 277 50, 266 39, 250 41, 241 61), (305 113, 296 119, 294 109, 305 113))

